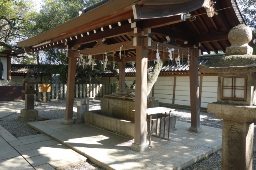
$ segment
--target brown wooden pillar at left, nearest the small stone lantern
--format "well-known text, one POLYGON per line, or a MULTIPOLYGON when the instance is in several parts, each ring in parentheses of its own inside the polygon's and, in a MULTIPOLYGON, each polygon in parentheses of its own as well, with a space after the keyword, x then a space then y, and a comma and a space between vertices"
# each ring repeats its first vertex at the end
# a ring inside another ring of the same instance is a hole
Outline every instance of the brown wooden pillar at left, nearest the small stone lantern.
POLYGON ((64 124, 74 123, 73 119, 73 106, 74 106, 74 91, 75 91, 75 78, 76 78, 76 58, 73 57, 71 51, 66 53, 68 57, 68 82, 67 82, 67 98, 64 124))

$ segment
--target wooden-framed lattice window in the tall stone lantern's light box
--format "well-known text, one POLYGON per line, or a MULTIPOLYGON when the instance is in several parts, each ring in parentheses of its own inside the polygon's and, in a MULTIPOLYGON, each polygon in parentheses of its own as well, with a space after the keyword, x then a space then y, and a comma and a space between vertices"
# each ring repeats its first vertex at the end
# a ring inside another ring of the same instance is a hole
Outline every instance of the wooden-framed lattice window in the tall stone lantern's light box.
POLYGON ((221 99, 246 101, 246 86, 246 76, 222 76, 221 99))

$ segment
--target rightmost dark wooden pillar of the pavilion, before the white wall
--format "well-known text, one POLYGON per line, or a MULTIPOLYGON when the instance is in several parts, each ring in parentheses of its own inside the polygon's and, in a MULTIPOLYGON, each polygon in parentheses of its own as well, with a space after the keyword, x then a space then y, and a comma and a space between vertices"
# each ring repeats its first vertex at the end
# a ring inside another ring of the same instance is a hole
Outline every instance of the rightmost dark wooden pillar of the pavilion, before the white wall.
POLYGON ((194 50, 190 57, 189 80, 190 80, 190 107, 191 107, 191 127, 189 131, 202 132, 200 127, 200 101, 198 84, 198 56, 201 50, 194 50))

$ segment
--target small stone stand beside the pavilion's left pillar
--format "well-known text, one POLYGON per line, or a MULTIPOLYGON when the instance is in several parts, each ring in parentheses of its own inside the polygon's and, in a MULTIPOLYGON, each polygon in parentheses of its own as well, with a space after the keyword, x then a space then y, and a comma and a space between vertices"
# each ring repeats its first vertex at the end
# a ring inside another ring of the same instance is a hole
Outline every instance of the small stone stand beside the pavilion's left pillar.
POLYGON ((89 100, 92 98, 75 98, 76 103, 76 119, 75 123, 84 123, 84 111, 89 111, 89 100))

